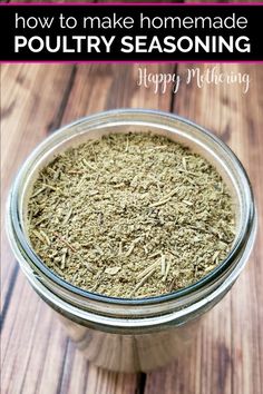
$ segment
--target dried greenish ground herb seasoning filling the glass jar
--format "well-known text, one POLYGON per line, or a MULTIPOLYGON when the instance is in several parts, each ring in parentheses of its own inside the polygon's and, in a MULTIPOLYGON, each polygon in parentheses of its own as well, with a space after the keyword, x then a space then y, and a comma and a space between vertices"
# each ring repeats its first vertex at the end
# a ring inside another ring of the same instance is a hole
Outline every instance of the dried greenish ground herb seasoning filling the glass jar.
POLYGON ((75 286, 117 297, 166 294, 228 254, 235 217, 214 167, 150 134, 116 134, 58 155, 36 180, 28 230, 75 286))

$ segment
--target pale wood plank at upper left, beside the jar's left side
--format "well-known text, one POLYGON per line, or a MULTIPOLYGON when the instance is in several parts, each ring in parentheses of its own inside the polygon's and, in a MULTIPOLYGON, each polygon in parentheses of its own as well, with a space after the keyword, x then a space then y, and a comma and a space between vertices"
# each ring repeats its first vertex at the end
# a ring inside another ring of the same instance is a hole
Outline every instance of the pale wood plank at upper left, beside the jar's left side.
MULTIPOLYGON (((1 67, 1 226, 4 228, 7 194, 11 181, 28 154, 47 135, 57 117, 60 97, 65 93, 71 66, 50 68, 47 73, 38 65, 6 65, 1 67), (11 159, 10 159, 11 157, 11 159)), ((1 238, 2 303, 10 292, 9 282, 16 277, 14 262, 7 243, 1 238)))

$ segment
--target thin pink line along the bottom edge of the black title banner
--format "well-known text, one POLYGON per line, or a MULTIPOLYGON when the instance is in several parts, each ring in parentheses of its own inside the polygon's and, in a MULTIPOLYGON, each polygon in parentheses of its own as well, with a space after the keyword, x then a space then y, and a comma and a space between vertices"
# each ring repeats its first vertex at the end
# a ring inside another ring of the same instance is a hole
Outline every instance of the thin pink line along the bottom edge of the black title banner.
POLYGON ((76 65, 76 63, 246 63, 246 65, 263 65, 263 60, 1 60, 0 65, 7 63, 61 63, 61 65, 76 65))

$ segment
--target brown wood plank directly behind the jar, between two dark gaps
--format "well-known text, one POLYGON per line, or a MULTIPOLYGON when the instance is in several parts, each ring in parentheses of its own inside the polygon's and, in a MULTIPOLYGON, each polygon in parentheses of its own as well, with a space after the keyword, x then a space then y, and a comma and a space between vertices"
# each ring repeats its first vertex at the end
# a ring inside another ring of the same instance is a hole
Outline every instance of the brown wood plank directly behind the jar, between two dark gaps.
MULTIPOLYGON (((89 114, 114 108, 169 110, 171 92, 154 93, 154 88, 137 86, 143 65, 79 65, 62 124, 89 114)), ((173 72, 173 65, 149 65, 147 72, 173 72)))

